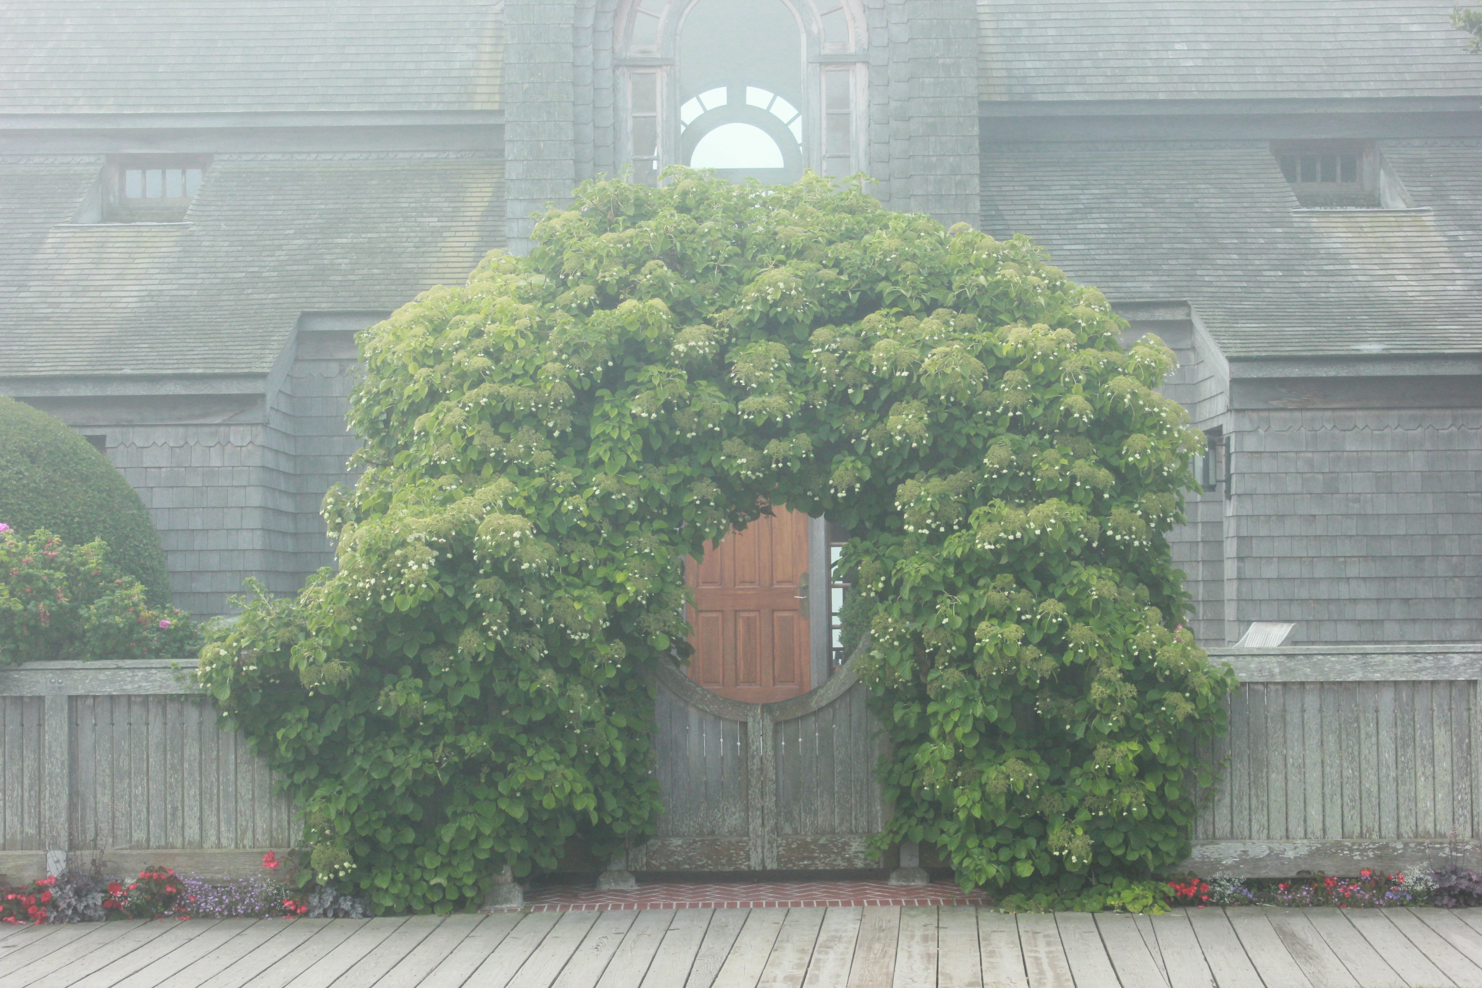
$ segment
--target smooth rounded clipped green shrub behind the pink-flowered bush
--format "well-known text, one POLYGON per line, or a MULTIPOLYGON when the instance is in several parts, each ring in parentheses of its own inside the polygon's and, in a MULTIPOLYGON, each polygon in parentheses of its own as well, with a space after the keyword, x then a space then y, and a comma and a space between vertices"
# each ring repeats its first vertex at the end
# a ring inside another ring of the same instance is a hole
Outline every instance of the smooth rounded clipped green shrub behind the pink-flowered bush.
POLYGON ((0 398, 0 520, 73 545, 102 539, 150 606, 170 601, 159 532, 123 474, 61 421, 10 398, 0 398))

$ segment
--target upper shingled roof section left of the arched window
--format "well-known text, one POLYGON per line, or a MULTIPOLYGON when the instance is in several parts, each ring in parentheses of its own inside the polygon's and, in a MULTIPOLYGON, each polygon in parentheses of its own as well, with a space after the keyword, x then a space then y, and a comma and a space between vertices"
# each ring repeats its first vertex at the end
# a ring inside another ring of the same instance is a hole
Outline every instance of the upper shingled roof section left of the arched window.
POLYGON ((6 0, 0 113, 498 110, 491 0, 6 0))

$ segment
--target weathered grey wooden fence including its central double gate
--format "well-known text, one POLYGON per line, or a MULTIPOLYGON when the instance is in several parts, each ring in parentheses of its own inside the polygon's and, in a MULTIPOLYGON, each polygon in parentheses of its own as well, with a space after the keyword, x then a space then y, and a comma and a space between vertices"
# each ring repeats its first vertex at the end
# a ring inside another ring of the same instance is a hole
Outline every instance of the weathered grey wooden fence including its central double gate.
MULTIPOLYGON (((1217 650, 1240 678, 1189 868, 1352 874, 1457 861, 1482 868, 1482 644, 1217 650)), ((643 871, 865 868, 888 813, 879 738, 846 665, 781 704, 659 677, 659 834, 643 871)), ((252 874, 293 843, 262 758, 170 662, 0 670, 0 872, 68 858, 116 872, 160 862, 252 874)))

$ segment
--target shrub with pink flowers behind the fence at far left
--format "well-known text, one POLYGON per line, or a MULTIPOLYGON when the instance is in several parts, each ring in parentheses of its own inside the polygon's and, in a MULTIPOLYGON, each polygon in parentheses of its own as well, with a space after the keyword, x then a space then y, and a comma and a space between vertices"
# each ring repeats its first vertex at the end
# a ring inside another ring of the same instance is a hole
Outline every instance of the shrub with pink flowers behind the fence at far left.
POLYGON ((46 529, 18 538, 0 523, 0 664, 33 659, 185 659, 200 628, 153 607, 104 542, 68 545, 46 529))

